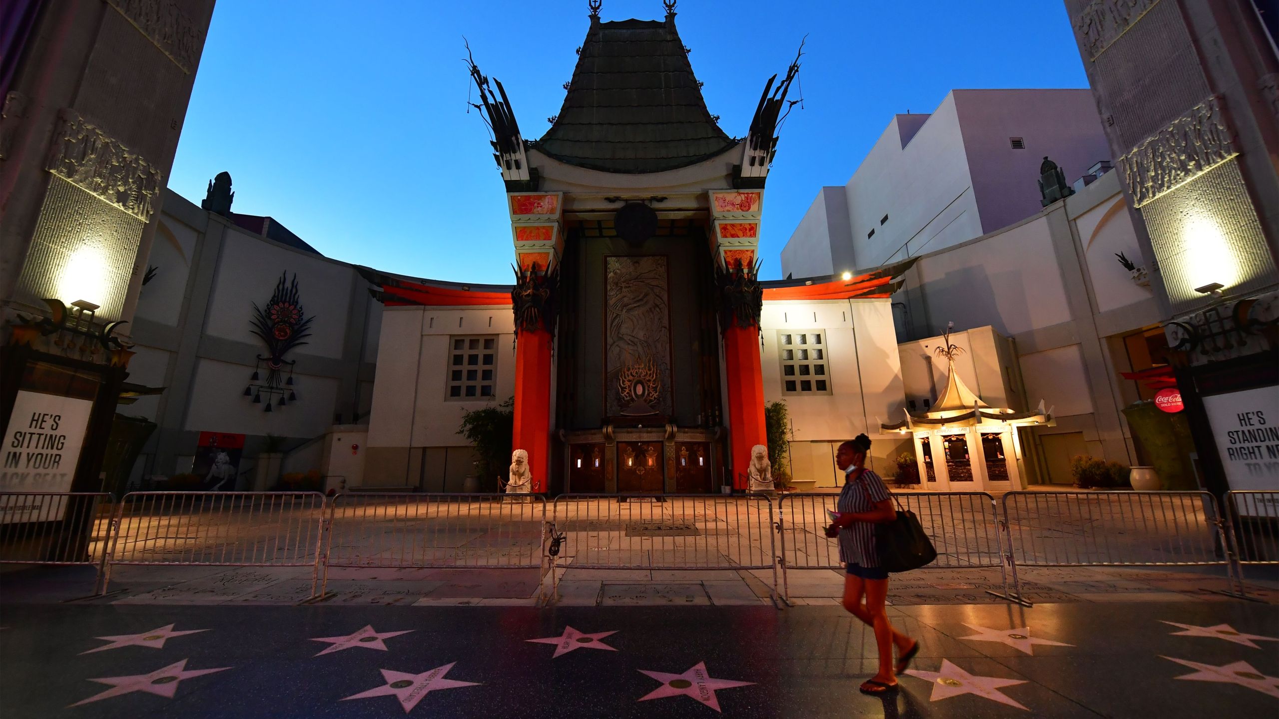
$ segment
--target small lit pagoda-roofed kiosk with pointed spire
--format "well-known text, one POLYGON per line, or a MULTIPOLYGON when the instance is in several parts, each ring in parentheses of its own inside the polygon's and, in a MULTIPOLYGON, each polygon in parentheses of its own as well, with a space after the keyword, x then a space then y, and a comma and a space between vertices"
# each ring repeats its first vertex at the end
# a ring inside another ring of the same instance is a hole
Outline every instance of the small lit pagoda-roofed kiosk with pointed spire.
POLYGON ((886 432, 914 435, 920 489, 932 491, 1008 491, 1026 486, 1017 427, 1051 426, 1053 409, 1044 400, 1031 412, 991 407, 973 393, 955 371, 963 352, 946 329, 936 353, 946 361, 946 386, 925 412, 906 412, 906 420, 881 423, 886 432))

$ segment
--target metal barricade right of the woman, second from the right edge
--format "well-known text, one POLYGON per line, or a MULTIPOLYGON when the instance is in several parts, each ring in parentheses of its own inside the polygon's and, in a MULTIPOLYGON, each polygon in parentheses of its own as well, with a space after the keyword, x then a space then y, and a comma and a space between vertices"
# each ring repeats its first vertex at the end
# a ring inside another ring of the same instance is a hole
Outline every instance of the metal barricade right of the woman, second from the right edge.
POLYGON ((1008 551, 1021 567, 1209 567, 1233 576, 1206 491, 1010 491, 1008 551))

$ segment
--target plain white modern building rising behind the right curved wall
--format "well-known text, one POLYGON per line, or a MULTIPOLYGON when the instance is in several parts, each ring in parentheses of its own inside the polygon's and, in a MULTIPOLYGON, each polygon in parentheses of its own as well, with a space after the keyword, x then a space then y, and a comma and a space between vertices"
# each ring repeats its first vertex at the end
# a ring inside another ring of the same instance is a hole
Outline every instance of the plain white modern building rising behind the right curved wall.
POLYGON ((781 274, 857 273, 1021 221, 1042 207, 1045 156, 1069 180, 1110 157, 1088 90, 953 90, 894 115, 848 184, 819 191, 781 274))

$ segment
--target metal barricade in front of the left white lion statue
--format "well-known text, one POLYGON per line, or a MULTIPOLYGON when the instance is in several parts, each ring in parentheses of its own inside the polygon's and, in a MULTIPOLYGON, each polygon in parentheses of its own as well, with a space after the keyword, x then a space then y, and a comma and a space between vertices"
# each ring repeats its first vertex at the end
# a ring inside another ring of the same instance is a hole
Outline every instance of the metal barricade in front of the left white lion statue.
POLYGON ((541 571, 545 525, 546 498, 535 494, 340 494, 321 594, 329 567, 541 571))

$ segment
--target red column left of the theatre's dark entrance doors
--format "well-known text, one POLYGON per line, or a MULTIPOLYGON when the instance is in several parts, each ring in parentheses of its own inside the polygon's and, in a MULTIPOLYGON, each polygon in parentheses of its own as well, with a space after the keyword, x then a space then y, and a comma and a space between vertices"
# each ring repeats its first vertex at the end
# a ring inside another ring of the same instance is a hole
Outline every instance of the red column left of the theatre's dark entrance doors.
POLYGON ((550 471, 551 333, 523 330, 515 340, 515 425, 512 449, 528 453, 531 491, 544 493, 550 471))

